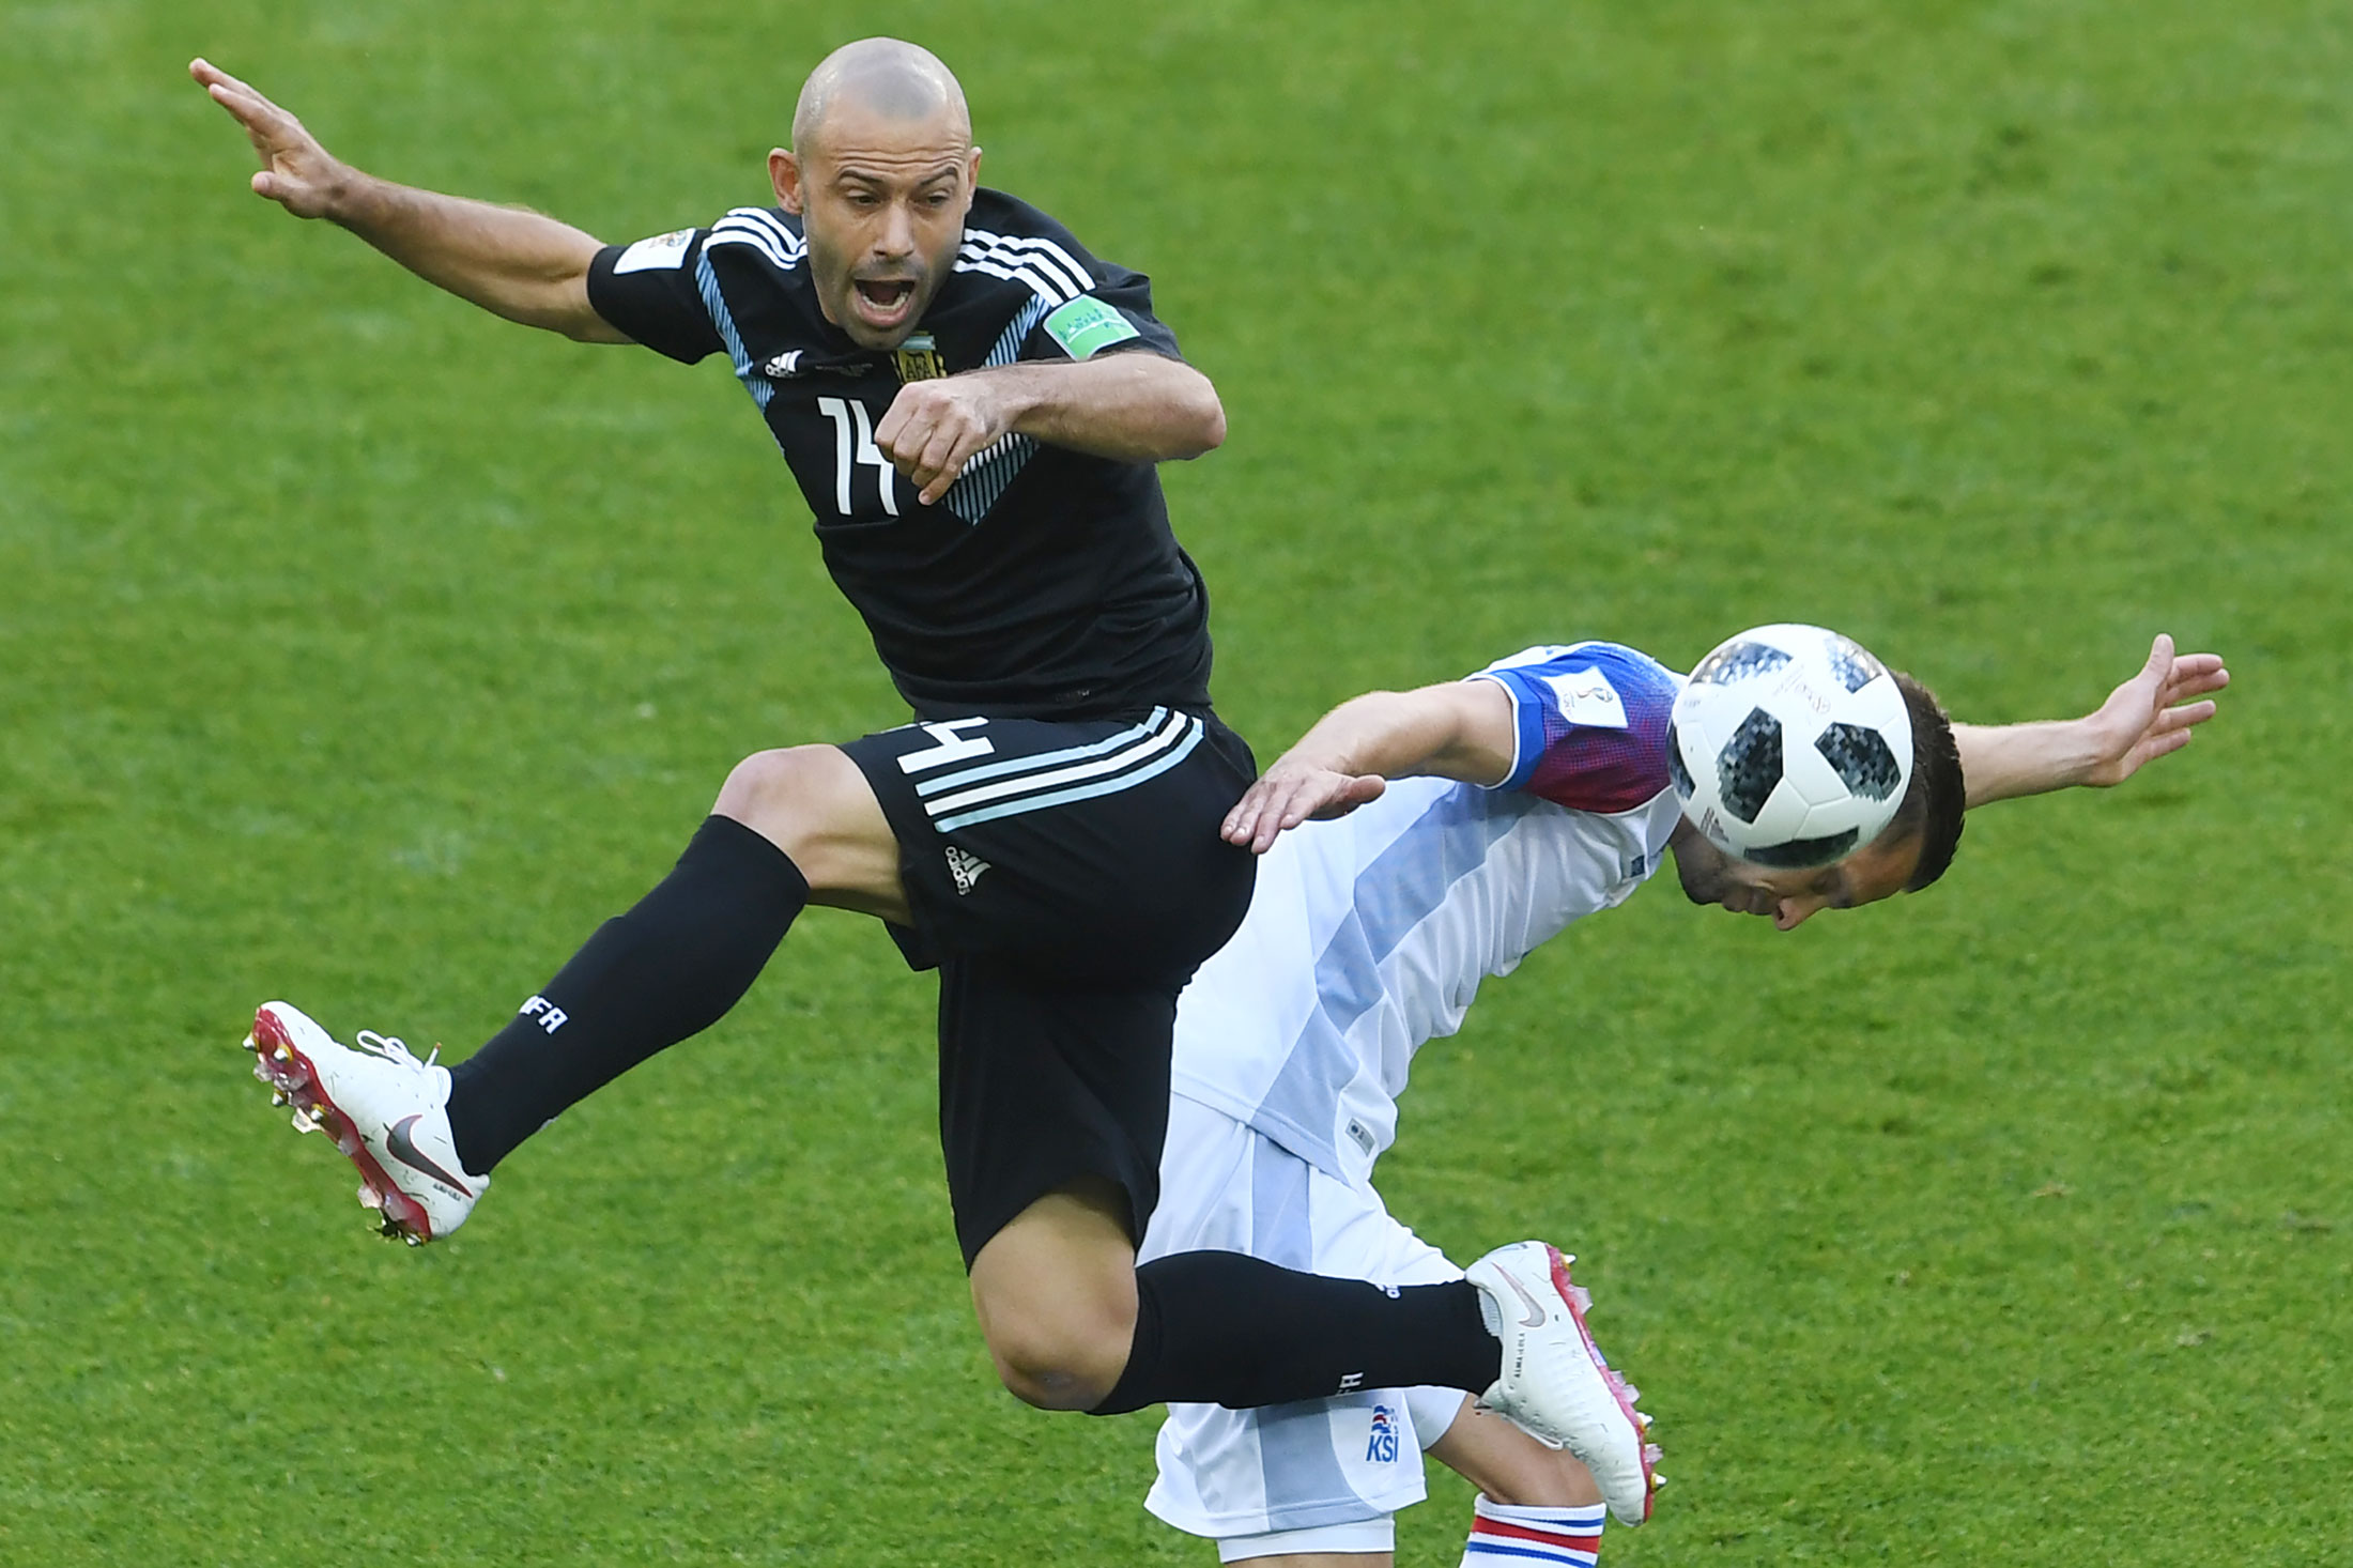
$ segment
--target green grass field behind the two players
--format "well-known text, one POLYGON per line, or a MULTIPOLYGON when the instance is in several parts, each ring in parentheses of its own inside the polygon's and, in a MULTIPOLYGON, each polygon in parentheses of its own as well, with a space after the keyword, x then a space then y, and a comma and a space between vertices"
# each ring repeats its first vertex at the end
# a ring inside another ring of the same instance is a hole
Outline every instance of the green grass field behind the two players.
POLYGON ((1167 487, 1261 758, 1577 636, 1831 622, 1977 720, 2231 659, 1918 899, 1659 888, 1426 1052, 1393 1208, 1574 1245, 1661 1415, 1605 1561, 2353 1552, 2341 5, 0 19, 0 1561, 1214 1561, 1148 1415, 995 1389, 880 930, 807 918, 428 1253, 235 1050, 292 996, 464 1055, 744 751, 904 713, 725 370, 285 219, 186 59, 635 238, 765 200, 878 26, 1217 379, 1167 487))

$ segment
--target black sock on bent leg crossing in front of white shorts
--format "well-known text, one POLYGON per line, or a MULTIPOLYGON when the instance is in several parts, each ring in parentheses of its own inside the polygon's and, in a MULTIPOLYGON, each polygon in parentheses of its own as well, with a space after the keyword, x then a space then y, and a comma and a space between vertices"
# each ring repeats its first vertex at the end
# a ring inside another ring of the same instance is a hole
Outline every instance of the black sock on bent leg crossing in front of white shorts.
POLYGON ((1247 1410, 1424 1382, 1485 1394, 1501 1363, 1468 1281, 1386 1290, 1242 1253, 1176 1253, 1136 1269, 1136 1340, 1094 1415, 1172 1398, 1247 1410))

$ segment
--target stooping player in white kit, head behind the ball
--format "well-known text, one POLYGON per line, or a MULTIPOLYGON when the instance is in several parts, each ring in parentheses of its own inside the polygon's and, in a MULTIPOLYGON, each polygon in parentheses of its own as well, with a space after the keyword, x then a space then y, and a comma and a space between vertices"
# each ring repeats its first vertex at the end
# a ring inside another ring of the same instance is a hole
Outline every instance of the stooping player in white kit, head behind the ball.
MULTIPOLYGON (((1341 704, 1268 768, 1226 824, 1264 852, 1249 916, 1179 1001, 1162 1201, 1141 1257, 1219 1248, 1377 1285, 1459 1278, 1388 1215, 1372 1170, 1414 1050, 1461 1026, 1487 975, 1624 902, 1668 852, 1694 902, 1784 930, 1925 885, 1965 805, 2122 782, 2188 742, 2214 713, 2195 699, 2228 673, 2158 638, 2099 711, 2005 727, 1948 725, 1906 680, 1915 735, 1927 730, 1915 789, 1951 798, 1814 871, 1727 862, 1682 824, 1666 777, 1680 683, 1614 643, 1532 647, 1468 680, 1341 704)), ((1480 1488, 1466 1566, 1595 1561, 1591 1476, 1459 1389, 1172 1403, 1146 1507, 1224 1561, 1362 1568, 1426 1495, 1421 1450, 1480 1488)))

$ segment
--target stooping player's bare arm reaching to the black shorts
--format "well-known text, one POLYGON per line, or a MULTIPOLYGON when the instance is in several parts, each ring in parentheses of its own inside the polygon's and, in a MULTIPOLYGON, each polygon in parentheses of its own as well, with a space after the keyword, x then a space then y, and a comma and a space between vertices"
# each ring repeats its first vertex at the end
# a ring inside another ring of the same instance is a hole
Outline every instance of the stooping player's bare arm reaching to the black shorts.
POLYGON ((1379 800, 1386 779, 1435 775, 1494 784, 1511 772, 1511 695, 1494 680, 1351 697, 1318 718, 1226 812, 1226 843, 1266 855, 1285 829, 1379 800))

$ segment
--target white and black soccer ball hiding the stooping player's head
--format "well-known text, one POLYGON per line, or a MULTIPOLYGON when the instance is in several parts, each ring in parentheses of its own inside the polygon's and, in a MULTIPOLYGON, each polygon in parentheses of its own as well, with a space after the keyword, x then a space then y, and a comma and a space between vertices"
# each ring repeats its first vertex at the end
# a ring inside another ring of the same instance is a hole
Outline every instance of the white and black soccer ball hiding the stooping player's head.
POLYGON ((1758 866, 1826 866, 1878 838, 1911 784, 1911 713, 1887 666, 1821 626, 1758 626, 1675 695, 1666 770, 1682 815, 1758 866))

